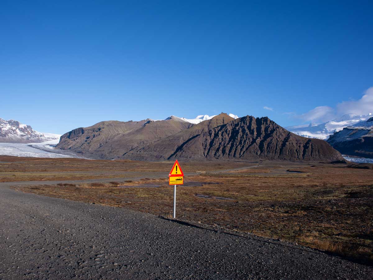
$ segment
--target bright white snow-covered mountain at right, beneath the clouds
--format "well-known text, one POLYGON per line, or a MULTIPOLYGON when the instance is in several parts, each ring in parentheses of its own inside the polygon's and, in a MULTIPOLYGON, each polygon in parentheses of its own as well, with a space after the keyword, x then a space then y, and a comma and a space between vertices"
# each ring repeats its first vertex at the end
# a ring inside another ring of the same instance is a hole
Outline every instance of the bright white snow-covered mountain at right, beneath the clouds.
POLYGON ((346 114, 341 116, 341 118, 336 118, 319 125, 311 123, 310 125, 295 125, 285 128, 299 136, 328 139, 330 134, 340 131, 345 127, 354 127, 360 122, 366 122, 372 116, 372 113, 369 113, 368 115, 346 114))

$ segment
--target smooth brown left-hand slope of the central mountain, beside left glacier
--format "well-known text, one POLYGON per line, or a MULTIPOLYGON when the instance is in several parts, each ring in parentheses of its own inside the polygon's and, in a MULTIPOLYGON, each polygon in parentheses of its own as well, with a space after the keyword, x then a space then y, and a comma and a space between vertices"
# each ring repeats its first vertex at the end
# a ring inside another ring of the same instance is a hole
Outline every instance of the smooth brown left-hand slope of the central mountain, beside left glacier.
POLYGON ((92 158, 116 159, 132 149, 178 133, 191 125, 177 117, 163 121, 103 121, 63 134, 57 148, 72 150, 92 158))

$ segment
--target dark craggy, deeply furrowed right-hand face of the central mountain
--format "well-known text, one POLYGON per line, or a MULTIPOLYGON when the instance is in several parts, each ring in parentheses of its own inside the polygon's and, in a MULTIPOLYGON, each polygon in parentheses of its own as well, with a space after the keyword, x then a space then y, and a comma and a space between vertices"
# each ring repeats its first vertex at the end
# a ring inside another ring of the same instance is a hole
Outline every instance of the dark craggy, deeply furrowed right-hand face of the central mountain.
POLYGON ((188 141, 172 158, 189 157, 189 151, 205 158, 334 161, 341 155, 319 139, 297 136, 269 118, 245 116, 216 127, 188 141))

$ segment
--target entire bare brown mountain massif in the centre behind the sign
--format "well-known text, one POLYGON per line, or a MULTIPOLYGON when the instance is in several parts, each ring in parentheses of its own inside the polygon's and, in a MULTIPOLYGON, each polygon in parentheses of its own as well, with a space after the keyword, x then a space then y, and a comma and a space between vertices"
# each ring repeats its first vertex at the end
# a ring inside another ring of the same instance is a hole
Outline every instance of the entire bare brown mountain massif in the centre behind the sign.
POLYGON ((64 134, 57 147, 94 158, 146 161, 175 158, 343 160, 326 141, 298 136, 267 117, 233 119, 225 113, 194 125, 179 118, 101 122, 64 134))

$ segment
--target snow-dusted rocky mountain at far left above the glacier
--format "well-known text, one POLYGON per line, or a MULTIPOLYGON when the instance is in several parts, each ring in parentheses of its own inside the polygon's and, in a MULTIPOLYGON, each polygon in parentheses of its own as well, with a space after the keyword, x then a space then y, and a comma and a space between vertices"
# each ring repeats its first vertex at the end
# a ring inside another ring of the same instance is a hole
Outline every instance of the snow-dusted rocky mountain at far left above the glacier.
POLYGON ((57 141, 59 137, 58 134, 38 132, 14 119, 6 121, 0 118, 0 143, 41 143, 57 141))

